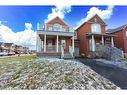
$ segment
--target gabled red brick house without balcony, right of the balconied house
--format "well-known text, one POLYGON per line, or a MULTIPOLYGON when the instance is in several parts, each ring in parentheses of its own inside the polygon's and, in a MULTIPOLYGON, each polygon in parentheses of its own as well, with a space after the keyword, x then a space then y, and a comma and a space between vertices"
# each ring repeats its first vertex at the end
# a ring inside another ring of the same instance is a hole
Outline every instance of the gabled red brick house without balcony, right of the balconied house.
POLYGON ((114 36, 106 33, 106 23, 96 14, 76 28, 81 56, 94 54, 98 45, 114 47, 114 36))

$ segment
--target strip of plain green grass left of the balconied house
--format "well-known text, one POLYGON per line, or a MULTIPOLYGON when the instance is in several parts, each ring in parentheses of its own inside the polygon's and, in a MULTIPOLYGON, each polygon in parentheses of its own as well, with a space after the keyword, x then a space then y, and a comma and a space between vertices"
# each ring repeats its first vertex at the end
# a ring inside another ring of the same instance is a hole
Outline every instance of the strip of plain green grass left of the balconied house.
POLYGON ((0 63, 20 61, 20 60, 32 60, 35 58, 36 58, 36 55, 6 57, 6 58, 0 58, 0 63))

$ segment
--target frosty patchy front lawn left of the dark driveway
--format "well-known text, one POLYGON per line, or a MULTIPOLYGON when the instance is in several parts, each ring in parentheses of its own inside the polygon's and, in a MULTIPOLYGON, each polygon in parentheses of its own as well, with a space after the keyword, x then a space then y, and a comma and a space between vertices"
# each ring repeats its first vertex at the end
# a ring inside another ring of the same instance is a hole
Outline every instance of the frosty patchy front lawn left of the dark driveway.
POLYGON ((34 58, 20 56, 0 64, 0 89, 119 89, 81 62, 34 58))

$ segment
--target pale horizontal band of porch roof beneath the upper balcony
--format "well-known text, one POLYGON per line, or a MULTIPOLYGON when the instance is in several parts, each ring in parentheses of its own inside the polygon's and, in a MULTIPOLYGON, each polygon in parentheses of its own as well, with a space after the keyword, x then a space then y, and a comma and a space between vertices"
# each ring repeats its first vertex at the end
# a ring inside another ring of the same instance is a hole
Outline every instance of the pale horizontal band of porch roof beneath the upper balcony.
POLYGON ((38 35, 51 35, 51 36, 68 36, 68 37, 72 37, 74 36, 74 32, 59 32, 59 31, 42 31, 42 30, 38 30, 37 31, 38 35))

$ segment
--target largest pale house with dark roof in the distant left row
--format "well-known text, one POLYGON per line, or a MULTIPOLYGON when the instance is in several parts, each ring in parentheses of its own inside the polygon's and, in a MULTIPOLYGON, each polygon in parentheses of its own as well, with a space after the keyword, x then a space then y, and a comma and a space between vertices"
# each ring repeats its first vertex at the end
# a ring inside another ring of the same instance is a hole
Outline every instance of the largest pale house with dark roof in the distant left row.
POLYGON ((4 47, 6 48, 8 55, 15 54, 15 45, 13 43, 4 43, 4 47))

